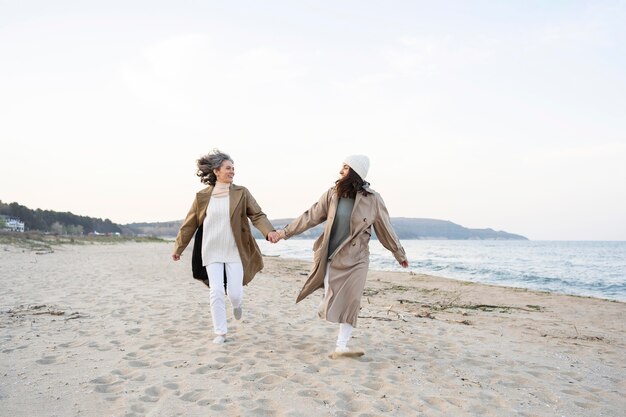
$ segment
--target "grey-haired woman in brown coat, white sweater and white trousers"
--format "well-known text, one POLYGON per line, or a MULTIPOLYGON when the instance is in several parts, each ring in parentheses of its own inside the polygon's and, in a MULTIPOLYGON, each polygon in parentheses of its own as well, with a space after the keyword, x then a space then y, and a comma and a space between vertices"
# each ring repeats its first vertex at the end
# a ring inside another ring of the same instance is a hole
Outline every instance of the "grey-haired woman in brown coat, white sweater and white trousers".
MULTIPOLYGON (((233 316, 241 319, 243 286, 263 269, 261 251, 252 236, 248 219, 268 240, 278 234, 247 188, 233 184, 235 165, 232 158, 217 149, 197 161, 203 184, 208 187, 196 194, 183 221, 172 259, 180 256, 196 233, 202 233, 201 260, 208 275, 211 317, 216 334, 213 343, 226 341, 226 291, 233 306, 233 316)), ((199 236, 199 235, 198 235, 199 236)), ((197 248, 196 248, 197 249, 197 248)))

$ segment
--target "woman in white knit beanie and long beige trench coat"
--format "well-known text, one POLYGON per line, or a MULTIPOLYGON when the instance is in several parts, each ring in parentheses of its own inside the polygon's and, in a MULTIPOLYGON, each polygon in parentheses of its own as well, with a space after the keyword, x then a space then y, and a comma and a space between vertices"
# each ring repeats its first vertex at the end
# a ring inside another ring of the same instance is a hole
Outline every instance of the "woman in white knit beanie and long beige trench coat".
POLYGON ((362 351, 350 351, 347 345, 357 323, 365 288, 372 227, 380 243, 391 251, 400 265, 409 266, 383 199, 365 181, 368 169, 369 158, 365 155, 345 158, 335 186, 300 217, 279 230, 276 240, 288 239, 326 221, 324 233, 313 244, 311 274, 296 302, 324 288, 318 315, 339 323, 332 358, 363 355, 362 351))

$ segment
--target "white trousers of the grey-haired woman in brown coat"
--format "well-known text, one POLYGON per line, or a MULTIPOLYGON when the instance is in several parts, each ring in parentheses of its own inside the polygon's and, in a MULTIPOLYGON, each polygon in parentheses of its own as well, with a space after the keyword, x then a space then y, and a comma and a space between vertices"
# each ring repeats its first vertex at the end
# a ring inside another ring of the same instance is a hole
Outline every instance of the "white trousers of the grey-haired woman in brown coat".
POLYGON ((241 307, 243 300, 243 265, 241 262, 216 262, 206 266, 211 291, 211 318, 215 334, 226 334, 226 297, 224 292, 224 266, 226 266, 228 298, 233 308, 241 307))

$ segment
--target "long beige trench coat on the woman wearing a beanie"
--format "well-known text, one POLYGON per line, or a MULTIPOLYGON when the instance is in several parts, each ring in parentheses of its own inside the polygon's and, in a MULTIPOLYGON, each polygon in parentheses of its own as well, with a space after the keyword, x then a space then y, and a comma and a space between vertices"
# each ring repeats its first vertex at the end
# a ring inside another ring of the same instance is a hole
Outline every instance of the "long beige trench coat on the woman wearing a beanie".
MULTIPOLYGON (((371 194, 364 196, 357 193, 350 219, 350 236, 337 248, 330 262, 329 288, 322 311, 326 320, 333 323, 350 323, 356 326, 369 267, 372 226, 380 243, 393 253, 398 262, 407 260, 404 248, 391 226, 383 199, 377 192, 367 190, 371 194)), ((324 287, 330 231, 338 201, 335 187, 332 187, 309 210, 285 227, 286 238, 289 238, 326 220, 324 233, 313 244, 311 274, 296 303, 324 287)))

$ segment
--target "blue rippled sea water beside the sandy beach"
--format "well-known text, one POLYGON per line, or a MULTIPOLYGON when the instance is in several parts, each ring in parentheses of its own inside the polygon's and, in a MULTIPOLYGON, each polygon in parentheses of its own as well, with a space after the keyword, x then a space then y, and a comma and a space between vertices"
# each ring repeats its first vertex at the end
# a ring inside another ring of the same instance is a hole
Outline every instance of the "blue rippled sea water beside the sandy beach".
MULTIPOLYGON (((311 261, 313 240, 272 245, 265 255, 311 261)), ((626 242, 518 240, 403 240, 409 270, 481 282, 626 302, 626 242)), ((370 269, 401 271, 377 241, 370 242, 370 269)))

